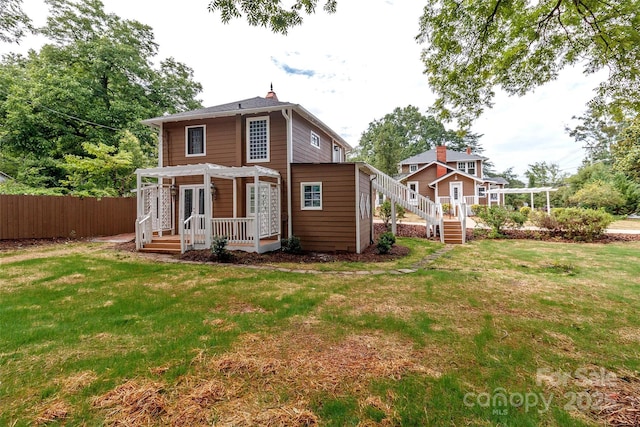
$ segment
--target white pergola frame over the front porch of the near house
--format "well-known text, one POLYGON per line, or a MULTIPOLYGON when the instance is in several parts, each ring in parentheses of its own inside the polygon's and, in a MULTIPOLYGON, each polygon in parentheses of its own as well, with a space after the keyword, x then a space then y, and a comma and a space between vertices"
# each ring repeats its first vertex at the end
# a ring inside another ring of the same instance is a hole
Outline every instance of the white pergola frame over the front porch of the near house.
MULTIPOLYGON (((233 216, 237 216, 237 178, 253 178, 255 188, 260 188, 261 178, 272 178, 277 182, 278 193, 280 192, 281 177, 280 173, 276 170, 269 169, 263 166, 221 166, 213 163, 201 163, 195 165, 184 166, 165 166, 149 169, 137 169, 137 194, 138 194, 138 217, 140 217, 144 211, 141 190, 143 188, 143 178, 153 178, 158 180, 158 185, 162 184, 164 179, 171 180, 171 186, 175 186, 175 180, 177 177, 186 176, 202 176, 202 183, 205 188, 211 186, 211 179, 230 179, 233 181, 233 216)), ((212 202, 210 197, 204 199, 204 209, 206 218, 212 217, 212 202)), ((260 212, 260 198, 255 197, 255 212, 260 212)), ((279 209, 278 209, 279 215, 279 209)), ((257 214, 256 214, 257 216, 257 214)), ((211 246, 211 223, 206 221, 206 247, 211 246)), ((259 236, 259 221, 255 221, 255 236, 259 236)), ((256 250, 259 247, 259 238, 255 239, 256 250)))

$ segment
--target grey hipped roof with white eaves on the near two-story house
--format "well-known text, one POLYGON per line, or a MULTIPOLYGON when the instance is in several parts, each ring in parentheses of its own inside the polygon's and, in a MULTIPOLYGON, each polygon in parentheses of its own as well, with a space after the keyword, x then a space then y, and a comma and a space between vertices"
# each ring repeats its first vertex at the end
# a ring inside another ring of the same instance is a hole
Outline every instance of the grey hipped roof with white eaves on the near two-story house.
POLYGON ((199 108, 197 110, 184 111, 182 113, 176 114, 167 114, 160 117, 142 120, 142 123, 148 126, 159 127, 162 123, 179 122, 183 120, 202 120, 216 117, 229 117, 235 116, 236 114, 260 114, 272 111, 282 111, 289 108, 293 109, 298 114, 324 130, 332 138, 343 145, 347 149, 347 151, 353 149, 353 147, 340 135, 338 135, 333 129, 324 124, 320 119, 304 109, 302 106, 298 104, 292 104, 290 102, 278 101, 278 98, 275 96, 267 96, 266 98, 256 96, 255 98, 241 99, 240 101, 215 105, 213 107, 199 108))

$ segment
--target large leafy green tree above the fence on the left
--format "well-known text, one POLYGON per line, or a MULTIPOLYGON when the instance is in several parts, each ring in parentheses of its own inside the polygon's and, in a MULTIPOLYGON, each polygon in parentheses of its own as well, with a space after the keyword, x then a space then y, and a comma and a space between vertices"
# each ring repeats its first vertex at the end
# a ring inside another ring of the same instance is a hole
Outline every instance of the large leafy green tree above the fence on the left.
POLYGON ((140 120, 201 106, 191 68, 173 58, 154 66, 152 29, 106 13, 99 0, 47 4, 40 31, 50 43, 0 61, 4 158, 32 158, 48 187, 70 185, 66 156, 86 156, 86 144, 116 153, 126 130, 155 158, 156 134, 140 120))

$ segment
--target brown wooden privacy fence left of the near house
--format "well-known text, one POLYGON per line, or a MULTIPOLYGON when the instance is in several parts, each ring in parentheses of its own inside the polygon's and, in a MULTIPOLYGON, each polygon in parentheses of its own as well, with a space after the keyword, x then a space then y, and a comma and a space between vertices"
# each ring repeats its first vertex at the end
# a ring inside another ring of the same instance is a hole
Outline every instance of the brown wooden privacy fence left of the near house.
POLYGON ((135 197, 0 194, 0 240, 133 233, 135 220, 135 197))

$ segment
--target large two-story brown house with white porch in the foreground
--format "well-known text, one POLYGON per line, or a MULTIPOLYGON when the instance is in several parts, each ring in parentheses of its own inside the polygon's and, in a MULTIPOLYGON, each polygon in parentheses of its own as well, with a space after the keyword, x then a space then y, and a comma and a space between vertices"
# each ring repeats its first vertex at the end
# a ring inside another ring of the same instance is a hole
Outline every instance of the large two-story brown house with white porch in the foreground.
POLYGON ((289 236, 316 251, 372 243, 375 170, 345 162, 351 146, 273 90, 143 123, 159 162, 136 171, 138 249, 208 249, 215 236, 260 253, 289 236))

